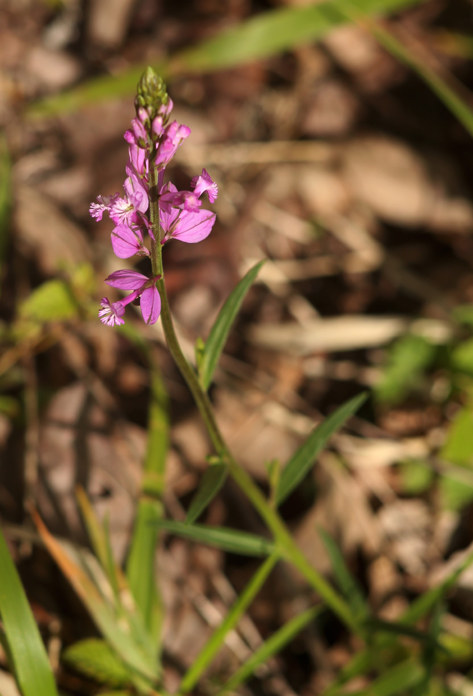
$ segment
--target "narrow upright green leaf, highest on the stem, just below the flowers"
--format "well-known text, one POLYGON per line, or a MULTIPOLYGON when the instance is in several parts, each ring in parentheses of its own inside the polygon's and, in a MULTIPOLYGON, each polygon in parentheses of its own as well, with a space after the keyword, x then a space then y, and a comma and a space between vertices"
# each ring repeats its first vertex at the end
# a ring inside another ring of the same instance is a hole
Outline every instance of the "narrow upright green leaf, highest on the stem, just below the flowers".
POLYGON ((230 296, 227 297, 223 307, 218 313, 214 326, 212 326, 210 330, 209 338, 207 338, 205 347, 200 354, 198 364, 200 383, 204 389, 209 388, 234 319, 239 313, 241 303, 243 299, 245 299, 246 293, 255 282, 255 278, 263 264, 264 260, 259 261, 259 263, 250 268, 243 278, 241 278, 234 290, 232 290, 230 296))

